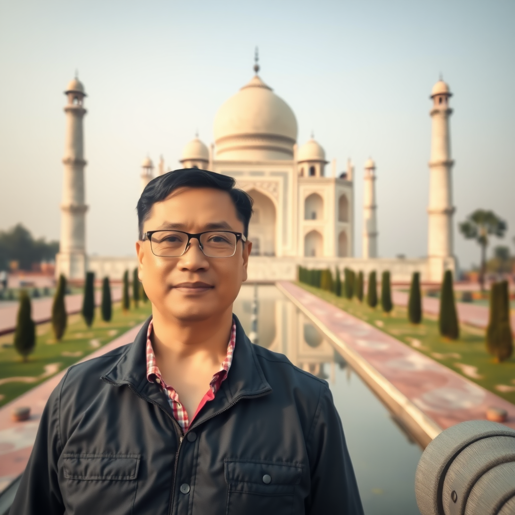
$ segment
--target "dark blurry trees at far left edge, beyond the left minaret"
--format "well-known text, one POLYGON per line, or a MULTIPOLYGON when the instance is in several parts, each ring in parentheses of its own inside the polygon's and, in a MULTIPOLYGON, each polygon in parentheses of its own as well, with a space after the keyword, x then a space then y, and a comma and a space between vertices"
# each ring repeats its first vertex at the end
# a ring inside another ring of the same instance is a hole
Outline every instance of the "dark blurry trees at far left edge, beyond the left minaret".
POLYGON ((22 224, 8 231, 0 231, 0 270, 7 270, 11 261, 18 261, 22 270, 30 270, 32 263, 55 260, 59 242, 35 239, 22 224))

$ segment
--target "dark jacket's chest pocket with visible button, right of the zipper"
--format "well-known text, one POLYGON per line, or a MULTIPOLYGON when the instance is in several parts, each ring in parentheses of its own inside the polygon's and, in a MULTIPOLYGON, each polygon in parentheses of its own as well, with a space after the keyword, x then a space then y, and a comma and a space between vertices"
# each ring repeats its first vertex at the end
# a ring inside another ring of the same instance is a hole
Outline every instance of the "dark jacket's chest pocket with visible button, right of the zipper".
POLYGON ((284 462, 226 460, 227 515, 290 515, 302 466, 284 462))

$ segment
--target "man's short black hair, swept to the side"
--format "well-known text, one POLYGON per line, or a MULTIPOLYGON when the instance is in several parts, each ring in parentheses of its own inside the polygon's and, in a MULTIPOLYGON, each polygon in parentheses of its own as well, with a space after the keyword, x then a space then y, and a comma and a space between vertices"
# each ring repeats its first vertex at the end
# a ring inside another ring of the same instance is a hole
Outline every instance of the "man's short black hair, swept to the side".
POLYGON ((145 186, 136 207, 140 239, 143 238, 143 224, 150 216, 152 206, 181 187, 214 188, 227 192, 234 203, 238 219, 243 222, 243 233, 248 236, 252 198, 243 190, 234 187, 235 184, 236 181, 228 175, 215 174, 213 171, 197 168, 183 168, 155 177, 145 186))

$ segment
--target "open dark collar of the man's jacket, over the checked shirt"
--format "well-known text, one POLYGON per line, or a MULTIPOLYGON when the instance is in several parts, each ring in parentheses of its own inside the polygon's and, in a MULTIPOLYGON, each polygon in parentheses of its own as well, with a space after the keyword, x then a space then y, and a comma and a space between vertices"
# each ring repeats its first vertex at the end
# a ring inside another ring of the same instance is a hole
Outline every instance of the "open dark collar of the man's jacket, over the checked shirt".
MULTIPOLYGON (((192 428, 220 411, 228 409, 241 399, 261 397, 272 391, 242 324, 235 315, 233 318, 236 323, 236 344, 227 379, 222 383, 215 398, 202 408, 192 428)), ((143 324, 133 344, 127 347, 118 362, 102 379, 116 386, 129 385, 136 395, 159 404, 173 415, 161 388, 147 380, 146 343, 149 323, 150 317, 143 324)))

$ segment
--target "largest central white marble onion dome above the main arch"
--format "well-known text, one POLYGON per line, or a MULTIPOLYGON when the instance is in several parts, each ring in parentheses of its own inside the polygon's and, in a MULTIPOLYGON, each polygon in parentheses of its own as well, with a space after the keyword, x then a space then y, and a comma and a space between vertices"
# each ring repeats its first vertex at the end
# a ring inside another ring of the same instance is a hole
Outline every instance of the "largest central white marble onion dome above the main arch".
POLYGON ((220 160, 292 159, 297 119, 288 104, 255 75, 220 107, 214 136, 220 160))

